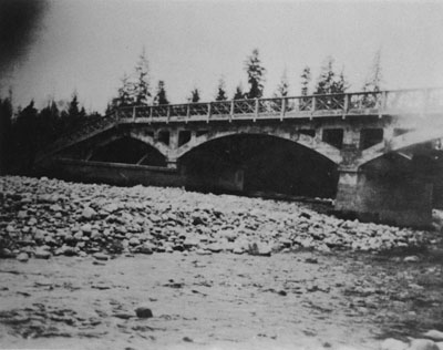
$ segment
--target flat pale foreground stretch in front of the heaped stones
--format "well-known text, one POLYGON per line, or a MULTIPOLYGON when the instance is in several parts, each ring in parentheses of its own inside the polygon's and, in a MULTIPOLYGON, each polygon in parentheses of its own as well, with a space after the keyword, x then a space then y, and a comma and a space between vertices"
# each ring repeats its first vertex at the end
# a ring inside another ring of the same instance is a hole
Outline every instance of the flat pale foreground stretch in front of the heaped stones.
POLYGON ((0 260, 2 348, 377 349, 442 325, 442 265, 299 251, 0 260), (153 318, 135 316, 151 308, 153 318))

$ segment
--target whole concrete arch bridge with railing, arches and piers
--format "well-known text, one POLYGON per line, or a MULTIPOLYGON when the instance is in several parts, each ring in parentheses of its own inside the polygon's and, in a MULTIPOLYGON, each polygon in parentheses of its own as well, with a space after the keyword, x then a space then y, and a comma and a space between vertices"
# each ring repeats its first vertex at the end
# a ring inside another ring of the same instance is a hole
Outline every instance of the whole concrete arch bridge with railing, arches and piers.
POLYGON ((128 106, 62 135, 35 168, 241 192, 268 166, 280 187, 329 182, 340 213, 426 226, 443 202, 442 138, 443 89, 128 106))

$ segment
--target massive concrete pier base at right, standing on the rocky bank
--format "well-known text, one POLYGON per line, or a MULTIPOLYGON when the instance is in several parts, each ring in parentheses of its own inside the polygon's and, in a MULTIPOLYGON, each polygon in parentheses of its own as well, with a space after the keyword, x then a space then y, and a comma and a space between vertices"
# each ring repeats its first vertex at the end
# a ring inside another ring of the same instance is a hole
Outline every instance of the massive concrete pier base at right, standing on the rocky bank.
POLYGON ((359 169, 339 172, 336 213, 364 222, 430 227, 432 184, 418 178, 387 178, 359 169))

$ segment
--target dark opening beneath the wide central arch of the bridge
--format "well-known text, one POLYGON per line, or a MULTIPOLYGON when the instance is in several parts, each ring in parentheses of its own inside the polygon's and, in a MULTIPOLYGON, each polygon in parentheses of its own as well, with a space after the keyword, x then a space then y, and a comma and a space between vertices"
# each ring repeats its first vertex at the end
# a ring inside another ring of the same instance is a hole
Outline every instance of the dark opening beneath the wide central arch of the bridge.
POLYGON ((244 191, 333 197, 337 165, 295 142, 271 135, 237 134, 208 141, 179 158, 188 178, 216 191, 227 169, 244 172, 244 191))

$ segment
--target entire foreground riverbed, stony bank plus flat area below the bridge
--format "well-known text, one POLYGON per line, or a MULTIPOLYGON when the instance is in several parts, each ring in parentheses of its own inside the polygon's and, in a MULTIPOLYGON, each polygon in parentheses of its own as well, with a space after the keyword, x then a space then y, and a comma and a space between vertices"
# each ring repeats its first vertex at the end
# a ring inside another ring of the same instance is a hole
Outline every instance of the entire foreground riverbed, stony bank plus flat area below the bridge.
POLYGON ((362 224, 306 204, 179 188, 0 177, 0 344, 443 348, 440 226, 362 224))

